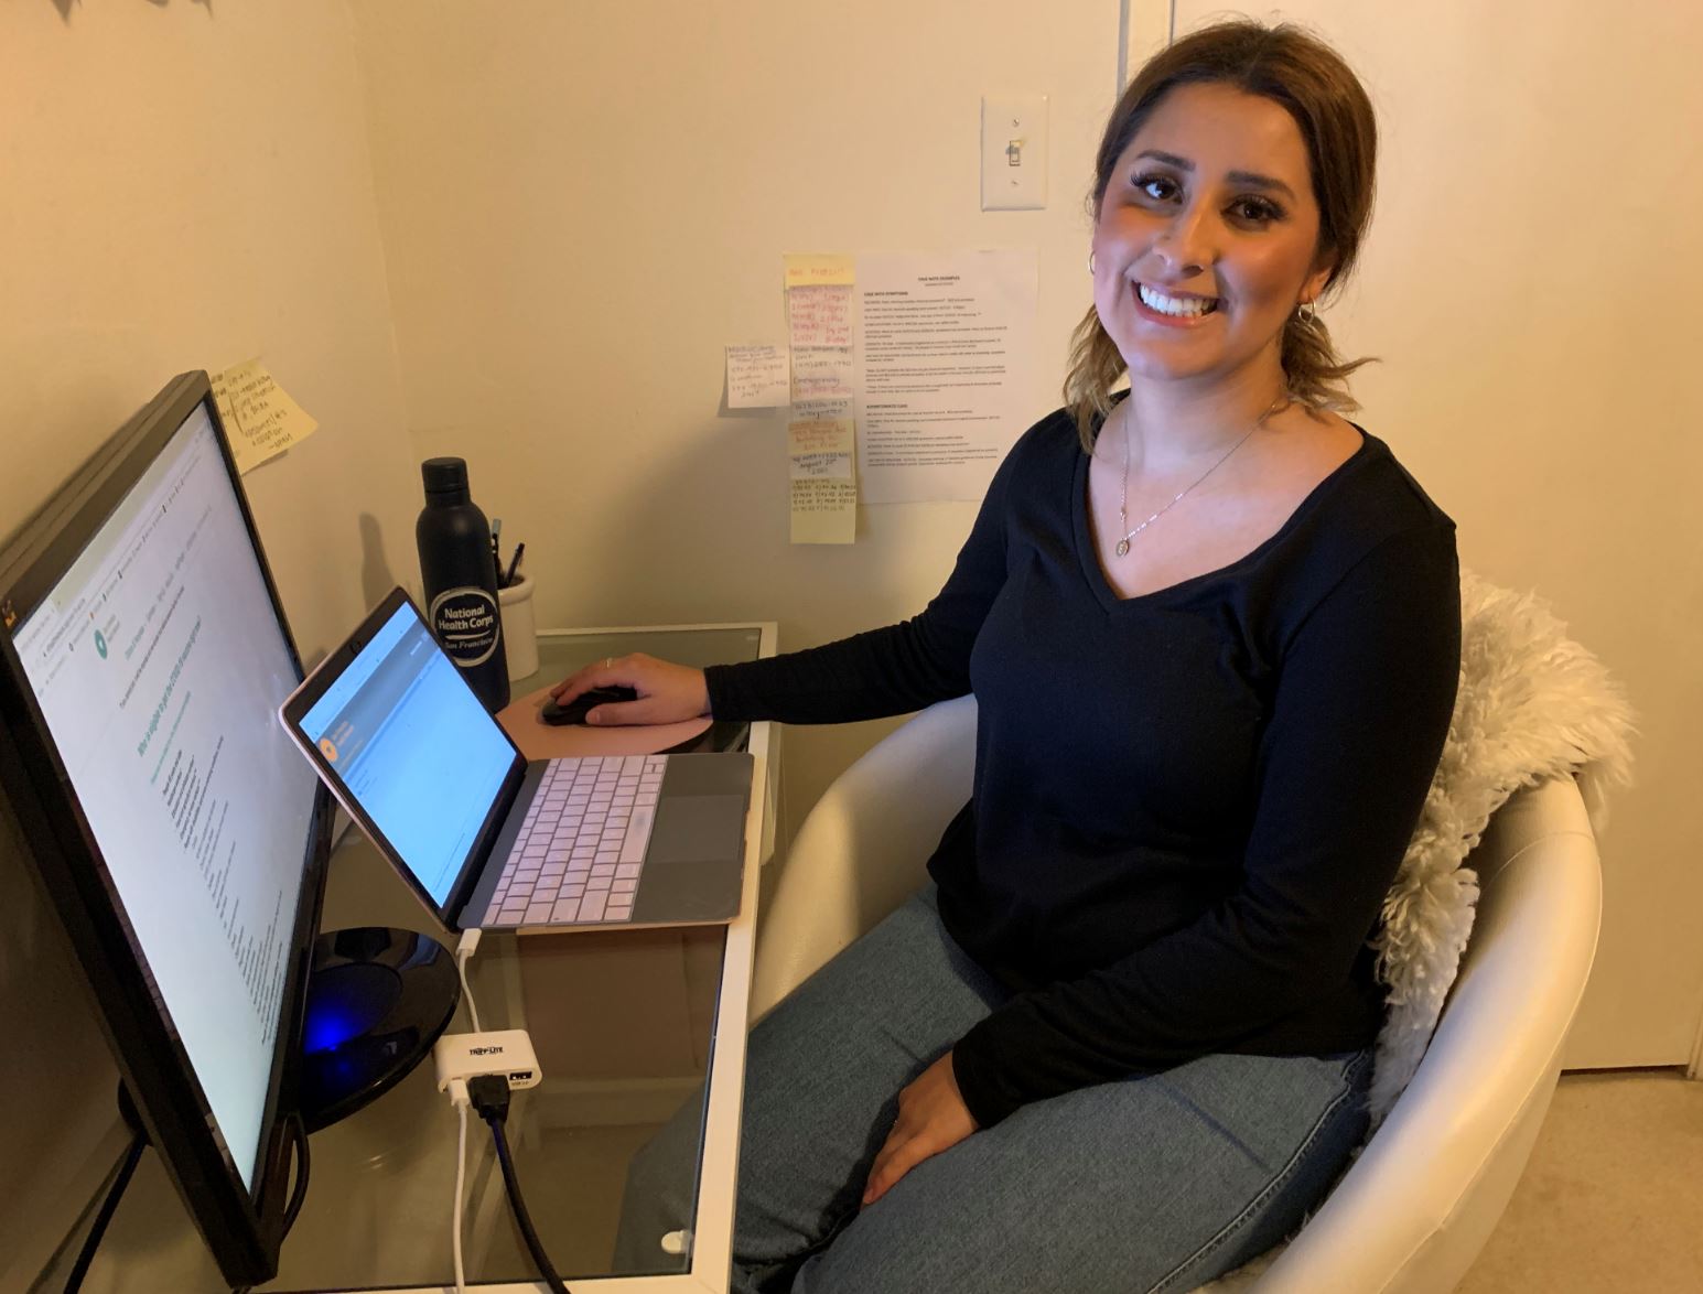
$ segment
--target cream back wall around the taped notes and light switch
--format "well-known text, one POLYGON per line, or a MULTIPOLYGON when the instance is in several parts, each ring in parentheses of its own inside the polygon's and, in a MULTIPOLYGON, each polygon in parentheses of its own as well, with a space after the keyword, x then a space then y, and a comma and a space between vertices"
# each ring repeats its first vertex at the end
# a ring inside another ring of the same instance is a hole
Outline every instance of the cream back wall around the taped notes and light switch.
MULTIPOLYGON (((783 339, 780 257, 1035 247, 1058 404, 1117 2, 358 0, 416 453, 465 453, 526 540, 542 625, 911 615, 972 504, 787 543, 783 426, 717 417, 722 346, 783 339), (1051 206, 981 213, 983 92, 1051 95, 1051 206)), ((787 734, 795 822, 887 725, 787 734)))

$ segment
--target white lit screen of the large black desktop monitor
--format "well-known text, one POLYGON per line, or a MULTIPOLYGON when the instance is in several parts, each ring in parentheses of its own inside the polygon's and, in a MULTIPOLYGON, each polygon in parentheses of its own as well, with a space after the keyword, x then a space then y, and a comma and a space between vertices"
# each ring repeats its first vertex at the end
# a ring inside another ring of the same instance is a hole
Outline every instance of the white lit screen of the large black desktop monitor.
POLYGON ((206 398, 19 608, 12 647, 167 1028, 252 1190, 300 974, 315 778, 278 730, 298 666, 206 398))

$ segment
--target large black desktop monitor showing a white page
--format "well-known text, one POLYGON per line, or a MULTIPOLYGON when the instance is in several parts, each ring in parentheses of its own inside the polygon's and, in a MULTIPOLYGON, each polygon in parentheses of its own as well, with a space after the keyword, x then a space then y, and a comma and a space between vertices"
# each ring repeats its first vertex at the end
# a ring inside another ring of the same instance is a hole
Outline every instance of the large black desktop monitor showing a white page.
POLYGON ((204 373, 0 548, 0 783, 124 1086, 233 1285, 276 1272, 329 800, 204 373))

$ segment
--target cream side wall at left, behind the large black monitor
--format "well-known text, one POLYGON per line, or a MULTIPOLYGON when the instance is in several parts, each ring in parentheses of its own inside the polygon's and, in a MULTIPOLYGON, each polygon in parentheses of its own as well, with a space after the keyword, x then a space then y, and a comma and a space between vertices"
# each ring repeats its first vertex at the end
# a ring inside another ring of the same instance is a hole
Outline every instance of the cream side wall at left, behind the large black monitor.
MULTIPOLYGON (((341 0, 0 7, 0 533, 169 376, 261 354, 320 422, 245 478, 305 656, 414 567, 358 82, 341 0)), ((10 839, 0 890, 15 1289, 112 1163, 118 1076, 10 839)))

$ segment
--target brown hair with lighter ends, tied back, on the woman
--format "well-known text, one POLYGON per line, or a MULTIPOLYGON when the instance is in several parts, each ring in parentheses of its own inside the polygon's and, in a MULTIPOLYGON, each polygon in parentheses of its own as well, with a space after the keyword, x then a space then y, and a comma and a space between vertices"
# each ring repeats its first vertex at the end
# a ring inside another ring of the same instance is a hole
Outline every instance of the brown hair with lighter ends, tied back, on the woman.
MULTIPOLYGON (((1354 269, 1373 213, 1378 124, 1359 78, 1335 49, 1291 24, 1265 27, 1236 20, 1184 36, 1143 65, 1105 123, 1093 167, 1095 220, 1117 158, 1178 85, 1230 85, 1270 99, 1294 119, 1306 145, 1318 203, 1318 262, 1330 262, 1325 279, 1325 293, 1330 293, 1354 269)), ((1344 361, 1316 315, 1294 313, 1284 325, 1282 371, 1289 397, 1310 409, 1357 409, 1347 378, 1364 363, 1344 361)), ((1064 404, 1090 453, 1124 368, 1100 315, 1088 306, 1071 341, 1064 404)))

